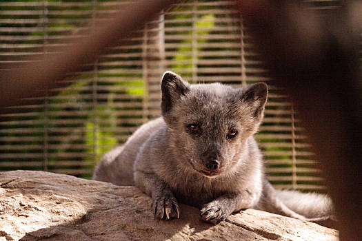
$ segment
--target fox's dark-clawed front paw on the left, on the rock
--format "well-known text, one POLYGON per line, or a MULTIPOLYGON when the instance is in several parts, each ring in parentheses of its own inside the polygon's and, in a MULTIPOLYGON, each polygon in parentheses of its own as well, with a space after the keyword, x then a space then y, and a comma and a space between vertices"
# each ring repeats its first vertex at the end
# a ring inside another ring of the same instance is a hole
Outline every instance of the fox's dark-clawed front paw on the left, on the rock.
POLYGON ((152 211, 154 218, 168 220, 170 218, 180 218, 180 207, 171 191, 163 191, 152 195, 152 211))

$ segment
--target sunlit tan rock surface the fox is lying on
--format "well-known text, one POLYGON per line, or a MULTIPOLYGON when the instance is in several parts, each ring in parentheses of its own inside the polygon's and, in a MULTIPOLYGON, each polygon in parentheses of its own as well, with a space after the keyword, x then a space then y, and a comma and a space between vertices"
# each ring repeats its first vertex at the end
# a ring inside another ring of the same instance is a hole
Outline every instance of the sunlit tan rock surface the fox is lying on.
POLYGON ((217 225, 181 205, 181 219, 154 220, 136 187, 43 171, 0 173, 2 240, 338 240, 318 224, 248 209, 217 225))

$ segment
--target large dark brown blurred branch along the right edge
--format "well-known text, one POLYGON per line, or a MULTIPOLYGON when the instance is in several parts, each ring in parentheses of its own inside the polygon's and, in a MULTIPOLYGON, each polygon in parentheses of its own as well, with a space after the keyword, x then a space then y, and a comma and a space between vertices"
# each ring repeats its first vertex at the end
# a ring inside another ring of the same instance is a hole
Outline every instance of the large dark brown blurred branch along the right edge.
POLYGON ((275 85, 312 138, 336 206, 341 240, 361 240, 361 3, 327 15, 295 1, 237 1, 275 85))

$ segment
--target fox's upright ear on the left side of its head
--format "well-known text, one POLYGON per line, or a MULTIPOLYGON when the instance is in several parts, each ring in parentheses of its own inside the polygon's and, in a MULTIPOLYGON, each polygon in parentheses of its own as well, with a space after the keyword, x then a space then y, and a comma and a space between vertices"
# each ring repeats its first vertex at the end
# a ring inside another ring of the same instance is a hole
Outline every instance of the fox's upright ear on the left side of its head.
POLYGON ((161 110, 162 115, 165 115, 172 109, 181 96, 190 91, 190 84, 171 71, 166 71, 162 76, 161 81, 161 110))

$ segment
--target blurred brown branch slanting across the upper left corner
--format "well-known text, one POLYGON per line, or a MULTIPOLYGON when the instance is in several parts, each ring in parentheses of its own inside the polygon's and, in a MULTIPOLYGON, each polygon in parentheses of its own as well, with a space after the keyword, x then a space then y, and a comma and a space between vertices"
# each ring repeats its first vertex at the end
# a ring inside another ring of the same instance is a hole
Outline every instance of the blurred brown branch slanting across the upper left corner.
MULTIPOLYGON (((90 29, 88 35, 74 40, 59 54, 48 54, 43 61, 27 63, 19 69, 0 71, 0 114, 14 112, 6 107, 26 103, 23 98, 43 96, 70 73, 93 63, 99 54, 117 45, 121 39, 130 38, 134 30, 143 28, 161 10, 176 0, 140 0, 118 10, 108 21, 90 29)), ((91 20, 90 20, 91 21, 91 20)), ((29 102, 29 101, 28 101, 29 102)))

